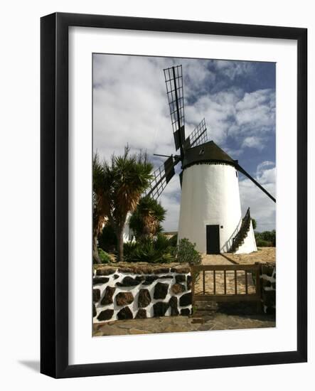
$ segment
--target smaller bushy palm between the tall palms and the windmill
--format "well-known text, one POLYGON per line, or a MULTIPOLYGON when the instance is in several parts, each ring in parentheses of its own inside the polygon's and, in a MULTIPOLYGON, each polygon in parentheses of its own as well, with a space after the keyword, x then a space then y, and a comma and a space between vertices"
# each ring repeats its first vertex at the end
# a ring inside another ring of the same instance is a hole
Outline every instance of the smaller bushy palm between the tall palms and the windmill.
POLYGON ((148 196, 139 200, 139 204, 129 220, 137 239, 154 237, 161 232, 161 222, 164 221, 166 210, 153 198, 148 196))

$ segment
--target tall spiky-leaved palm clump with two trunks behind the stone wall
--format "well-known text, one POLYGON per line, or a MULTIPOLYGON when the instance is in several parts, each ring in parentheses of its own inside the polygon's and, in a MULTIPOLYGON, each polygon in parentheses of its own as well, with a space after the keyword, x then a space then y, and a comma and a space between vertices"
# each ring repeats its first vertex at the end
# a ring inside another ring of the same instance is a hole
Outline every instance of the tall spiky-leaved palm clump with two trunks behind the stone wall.
MULTIPOLYGON (((109 163, 93 160, 93 191, 95 193, 95 218, 93 226, 93 256, 97 252, 97 236, 107 219, 117 235, 118 259, 124 258, 123 232, 127 214, 137 207, 142 193, 152 179, 152 165, 146 154, 130 154, 129 146, 122 156, 112 156, 109 163), (94 183, 95 181, 95 183, 94 183), (96 236, 96 239, 95 239, 96 236)), ((97 256, 95 257, 97 261, 97 256)))

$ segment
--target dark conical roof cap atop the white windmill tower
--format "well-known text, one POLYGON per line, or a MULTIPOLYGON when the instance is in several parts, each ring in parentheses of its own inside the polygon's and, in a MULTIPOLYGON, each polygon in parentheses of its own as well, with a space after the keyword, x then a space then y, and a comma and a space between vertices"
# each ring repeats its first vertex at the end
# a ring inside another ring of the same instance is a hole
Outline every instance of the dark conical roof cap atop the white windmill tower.
POLYGON ((236 160, 233 160, 220 146, 214 141, 208 141, 205 144, 193 146, 193 148, 186 149, 183 158, 183 168, 193 164, 202 164, 210 162, 223 162, 235 166, 236 160))

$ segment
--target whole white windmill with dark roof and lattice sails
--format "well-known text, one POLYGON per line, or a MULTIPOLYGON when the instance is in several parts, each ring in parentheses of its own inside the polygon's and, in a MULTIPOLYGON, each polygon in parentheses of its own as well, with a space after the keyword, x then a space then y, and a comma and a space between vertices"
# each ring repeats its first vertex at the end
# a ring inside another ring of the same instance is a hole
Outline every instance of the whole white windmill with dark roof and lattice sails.
POLYGON ((274 203, 276 200, 237 160, 208 141, 205 119, 186 138, 182 66, 164 69, 176 154, 154 171, 146 195, 159 198, 181 163, 181 208, 178 240, 186 237, 207 254, 257 251, 250 208, 242 218, 238 172, 247 176, 274 203))

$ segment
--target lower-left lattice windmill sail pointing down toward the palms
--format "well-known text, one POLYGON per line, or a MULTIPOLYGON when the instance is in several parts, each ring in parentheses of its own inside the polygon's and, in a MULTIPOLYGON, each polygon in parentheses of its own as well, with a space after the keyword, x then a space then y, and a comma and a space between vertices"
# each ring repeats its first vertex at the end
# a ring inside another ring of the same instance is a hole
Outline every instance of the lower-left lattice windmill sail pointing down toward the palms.
POLYGON ((178 158, 174 159, 173 156, 170 156, 166 159, 166 161, 164 161, 164 164, 161 164, 159 168, 156 168, 153 173, 154 178, 150 183, 149 190, 146 192, 146 195, 154 198, 154 200, 159 198, 167 183, 169 183, 171 178, 175 175, 174 167, 178 164, 178 161, 178 158))

